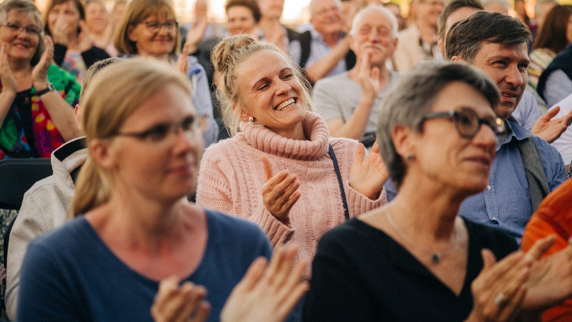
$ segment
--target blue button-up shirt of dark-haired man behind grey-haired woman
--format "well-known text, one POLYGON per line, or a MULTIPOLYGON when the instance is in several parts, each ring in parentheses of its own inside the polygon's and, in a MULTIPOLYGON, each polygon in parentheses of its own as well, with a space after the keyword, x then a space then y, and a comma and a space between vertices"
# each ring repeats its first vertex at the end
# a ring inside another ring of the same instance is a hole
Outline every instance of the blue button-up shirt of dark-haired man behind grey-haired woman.
MULTIPOLYGON (((509 137, 496 151, 487 189, 464 199, 459 215, 470 221, 501 228, 520 242, 526 223, 533 214, 533 206, 517 141, 533 135, 521 125, 510 121, 506 121, 506 124, 509 137)), ((534 136, 534 140, 542 155, 550 191, 553 191, 566 180, 562 156, 545 140, 537 136, 534 136)), ((391 179, 387 180, 384 187, 387 189, 387 200, 391 201, 396 195, 391 179)))

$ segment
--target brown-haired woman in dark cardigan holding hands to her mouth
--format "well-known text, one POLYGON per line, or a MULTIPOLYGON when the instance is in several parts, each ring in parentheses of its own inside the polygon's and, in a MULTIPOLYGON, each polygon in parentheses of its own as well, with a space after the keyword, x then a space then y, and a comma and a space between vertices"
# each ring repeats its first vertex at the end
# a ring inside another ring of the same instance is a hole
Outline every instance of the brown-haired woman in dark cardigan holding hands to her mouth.
POLYGON ((109 58, 105 50, 92 45, 80 0, 50 0, 43 11, 44 32, 54 38, 54 61, 69 70, 78 82, 94 62, 109 58))

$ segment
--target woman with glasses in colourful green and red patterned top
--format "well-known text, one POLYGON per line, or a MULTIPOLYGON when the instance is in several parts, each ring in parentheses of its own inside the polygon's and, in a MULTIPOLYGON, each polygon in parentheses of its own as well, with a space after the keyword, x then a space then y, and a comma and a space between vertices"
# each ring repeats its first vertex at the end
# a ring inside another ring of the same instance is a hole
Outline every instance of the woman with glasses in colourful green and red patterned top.
POLYGON ((0 5, 0 40, 0 159, 49 158, 80 136, 73 113, 80 85, 50 64, 54 45, 33 3, 0 5))

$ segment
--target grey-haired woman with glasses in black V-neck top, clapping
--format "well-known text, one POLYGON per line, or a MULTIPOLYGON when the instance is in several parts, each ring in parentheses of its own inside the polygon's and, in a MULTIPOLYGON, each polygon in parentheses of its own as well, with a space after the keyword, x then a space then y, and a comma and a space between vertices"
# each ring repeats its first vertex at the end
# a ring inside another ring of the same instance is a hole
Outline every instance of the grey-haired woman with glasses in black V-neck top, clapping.
POLYGON ((523 253, 509 234, 457 215, 487 187, 507 135, 496 85, 472 66, 442 63, 396 88, 378 140, 399 194, 324 234, 304 319, 538 321, 572 294, 572 246, 541 261, 554 237, 523 253))

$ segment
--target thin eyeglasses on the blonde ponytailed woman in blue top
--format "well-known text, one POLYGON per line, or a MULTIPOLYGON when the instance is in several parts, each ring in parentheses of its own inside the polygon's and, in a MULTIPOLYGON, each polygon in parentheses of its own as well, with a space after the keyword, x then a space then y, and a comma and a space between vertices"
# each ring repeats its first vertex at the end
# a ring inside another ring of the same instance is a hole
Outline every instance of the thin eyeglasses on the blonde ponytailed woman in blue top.
POLYGON ((194 135, 194 131, 198 129, 197 120, 198 119, 194 116, 188 116, 179 123, 161 123, 142 132, 117 132, 115 135, 131 136, 152 144, 165 143, 168 141, 167 138, 169 134, 174 133, 175 135, 173 135, 172 138, 175 138, 179 129, 181 129, 185 135, 194 135))

